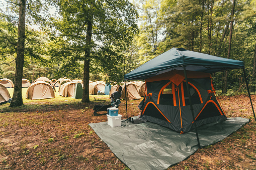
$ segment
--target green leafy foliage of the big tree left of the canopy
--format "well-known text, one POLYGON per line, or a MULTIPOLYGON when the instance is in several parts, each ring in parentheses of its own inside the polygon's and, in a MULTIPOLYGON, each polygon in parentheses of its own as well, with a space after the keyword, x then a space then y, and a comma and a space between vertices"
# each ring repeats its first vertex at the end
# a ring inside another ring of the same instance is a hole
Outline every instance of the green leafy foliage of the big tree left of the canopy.
POLYGON ((121 82, 124 75, 122 51, 129 47, 137 33, 137 13, 129 1, 72 1, 56 2, 59 18, 50 18, 51 59, 58 63, 56 75, 78 77, 83 75, 82 64, 87 51, 90 55, 90 72, 104 73, 107 82, 121 82), (93 7, 93 8, 92 8, 93 7), (91 19, 90 19, 91 18, 91 19), (87 26, 93 24, 93 38, 86 42, 87 26))

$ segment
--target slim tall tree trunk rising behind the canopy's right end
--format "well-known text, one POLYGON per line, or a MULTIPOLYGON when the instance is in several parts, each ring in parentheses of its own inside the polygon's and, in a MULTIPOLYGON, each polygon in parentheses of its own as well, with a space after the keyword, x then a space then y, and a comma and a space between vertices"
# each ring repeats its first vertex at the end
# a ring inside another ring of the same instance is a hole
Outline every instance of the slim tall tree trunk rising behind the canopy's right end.
MULTIPOLYGON (((229 32, 229 44, 228 44, 228 53, 227 53, 227 58, 230 58, 230 53, 231 53, 231 43, 232 43, 232 34, 233 34, 233 22, 234 22, 234 11, 235 11, 235 0, 233 0, 233 7, 231 11, 231 21, 230 21, 230 32, 229 32)), ((226 71, 225 75, 225 83, 224 83, 224 88, 223 92, 227 92, 227 78, 228 78, 228 71, 226 71)))

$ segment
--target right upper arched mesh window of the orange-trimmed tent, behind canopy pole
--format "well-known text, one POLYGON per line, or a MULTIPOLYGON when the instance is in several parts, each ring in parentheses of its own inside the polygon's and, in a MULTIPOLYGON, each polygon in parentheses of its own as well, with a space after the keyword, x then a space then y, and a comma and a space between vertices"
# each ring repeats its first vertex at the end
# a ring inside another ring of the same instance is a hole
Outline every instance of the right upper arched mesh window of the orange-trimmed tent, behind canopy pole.
MULTIPOLYGON (((185 105, 186 106, 190 105, 186 82, 183 82, 183 91, 184 91, 185 105)), ((200 104, 201 100, 200 100, 199 94, 197 90, 194 87, 192 87, 190 84, 189 84, 189 92, 190 92, 192 104, 200 104)))

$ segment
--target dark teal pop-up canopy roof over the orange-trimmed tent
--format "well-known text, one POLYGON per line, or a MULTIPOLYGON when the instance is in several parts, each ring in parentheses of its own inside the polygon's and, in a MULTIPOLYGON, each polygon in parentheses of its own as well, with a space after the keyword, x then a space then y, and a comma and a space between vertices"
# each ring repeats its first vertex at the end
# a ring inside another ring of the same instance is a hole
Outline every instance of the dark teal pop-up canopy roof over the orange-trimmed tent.
POLYGON ((186 66, 186 70, 205 73, 215 73, 244 67, 242 61, 216 57, 183 48, 172 48, 130 73, 125 74, 124 79, 145 80, 170 70, 183 70, 183 66, 186 66))

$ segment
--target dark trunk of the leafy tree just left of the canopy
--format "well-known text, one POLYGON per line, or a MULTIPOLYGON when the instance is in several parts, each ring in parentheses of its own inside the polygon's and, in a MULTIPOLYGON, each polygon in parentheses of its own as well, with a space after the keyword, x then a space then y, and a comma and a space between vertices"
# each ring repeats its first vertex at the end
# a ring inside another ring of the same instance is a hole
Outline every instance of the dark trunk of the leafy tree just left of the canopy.
POLYGON ((86 33, 86 51, 84 54, 84 65, 83 65, 83 92, 82 92, 82 103, 90 102, 89 98, 89 80, 90 80, 90 52, 91 52, 91 40, 93 31, 93 15, 87 23, 86 33))

